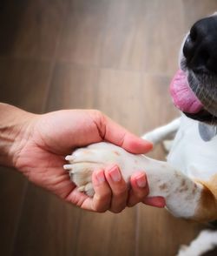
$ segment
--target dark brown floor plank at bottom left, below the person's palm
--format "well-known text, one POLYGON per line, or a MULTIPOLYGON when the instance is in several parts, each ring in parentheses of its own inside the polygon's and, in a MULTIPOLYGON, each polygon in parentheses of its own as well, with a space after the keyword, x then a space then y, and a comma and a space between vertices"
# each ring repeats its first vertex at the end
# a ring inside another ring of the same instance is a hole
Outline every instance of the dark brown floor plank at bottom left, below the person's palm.
POLYGON ((29 185, 12 255, 74 255, 81 211, 29 185))

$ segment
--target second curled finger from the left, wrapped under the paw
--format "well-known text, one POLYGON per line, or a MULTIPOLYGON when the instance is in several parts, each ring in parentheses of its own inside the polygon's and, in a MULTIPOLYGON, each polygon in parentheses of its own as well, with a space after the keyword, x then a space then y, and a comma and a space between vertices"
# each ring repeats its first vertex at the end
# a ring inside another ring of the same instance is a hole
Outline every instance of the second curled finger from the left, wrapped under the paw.
POLYGON ((112 200, 109 210, 110 212, 115 213, 122 212, 127 205, 128 199, 128 187, 125 180, 122 178, 122 173, 118 166, 114 165, 105 170, 105 177, 112 192, 112 200))

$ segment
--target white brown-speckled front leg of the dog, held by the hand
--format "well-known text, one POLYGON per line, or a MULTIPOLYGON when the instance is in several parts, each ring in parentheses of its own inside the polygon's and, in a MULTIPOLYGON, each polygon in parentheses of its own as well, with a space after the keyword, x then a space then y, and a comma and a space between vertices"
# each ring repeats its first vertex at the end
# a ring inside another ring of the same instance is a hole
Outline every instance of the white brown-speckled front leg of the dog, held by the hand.
MULTIPOLYGON (((167 162, 134 155, 109 143, 98 143, 81 148, 67 156, 69 175, 80 191, 93 196, 92 172, 107 165, 118 165, 128 182, 133 172, 143 171, 148 176, 149 196, 166 199, 170 212, 177 217, 200 219, 197 214, 204 186, 187 178, 167 162)), ((201 216, 202 217, 202 216, 201 216)))

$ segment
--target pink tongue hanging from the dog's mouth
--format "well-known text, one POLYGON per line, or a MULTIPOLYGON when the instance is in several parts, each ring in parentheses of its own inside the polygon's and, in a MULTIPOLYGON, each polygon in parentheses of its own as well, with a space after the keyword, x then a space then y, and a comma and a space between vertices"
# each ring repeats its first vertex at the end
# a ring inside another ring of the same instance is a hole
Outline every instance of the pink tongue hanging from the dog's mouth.
POLYGON ((196 98, 189 87, 186 74, 181 70, 174 75, 170 84, 170 94, 174 105, 181 111, 193 114, 201 111, 203 107, 201 101, 196 98))

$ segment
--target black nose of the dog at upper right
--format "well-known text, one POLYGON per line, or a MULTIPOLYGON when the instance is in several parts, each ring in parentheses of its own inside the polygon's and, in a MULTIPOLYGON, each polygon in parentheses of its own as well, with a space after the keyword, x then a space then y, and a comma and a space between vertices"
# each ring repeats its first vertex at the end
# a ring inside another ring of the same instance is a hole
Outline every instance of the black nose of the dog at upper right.
POLYGON ((217 16, 196 22, 183 47, 187 68, 217 72, 217 16))

